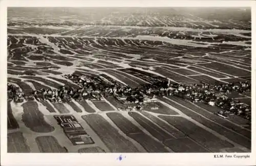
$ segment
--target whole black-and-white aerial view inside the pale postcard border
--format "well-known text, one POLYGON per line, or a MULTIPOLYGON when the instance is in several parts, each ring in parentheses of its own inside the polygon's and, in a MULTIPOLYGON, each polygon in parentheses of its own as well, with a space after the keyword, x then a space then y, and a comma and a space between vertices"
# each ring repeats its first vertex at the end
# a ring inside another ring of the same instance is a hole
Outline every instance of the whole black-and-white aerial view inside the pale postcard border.
POLYGON ((8 7, 6 86, 8 153, 248 153, 251 9, 8 7))

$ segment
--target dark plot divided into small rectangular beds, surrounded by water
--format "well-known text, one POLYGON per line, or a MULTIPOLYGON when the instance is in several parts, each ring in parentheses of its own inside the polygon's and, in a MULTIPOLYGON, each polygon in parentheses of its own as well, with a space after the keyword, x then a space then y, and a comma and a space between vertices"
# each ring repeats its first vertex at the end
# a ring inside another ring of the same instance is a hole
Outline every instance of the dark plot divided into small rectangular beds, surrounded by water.
POLYGON ((94 141, 73 115, 54 115, 73 145, 94 144, 94 141))

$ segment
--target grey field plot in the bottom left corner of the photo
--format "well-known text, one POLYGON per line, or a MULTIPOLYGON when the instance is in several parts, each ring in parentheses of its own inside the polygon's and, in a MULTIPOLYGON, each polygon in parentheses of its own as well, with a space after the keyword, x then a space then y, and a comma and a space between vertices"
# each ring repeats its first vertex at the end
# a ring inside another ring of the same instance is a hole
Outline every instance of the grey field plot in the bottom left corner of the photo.
POLYGON ((30 148, 22 132, 7 134, 7 152, 8 153, 29 153, 30 148))

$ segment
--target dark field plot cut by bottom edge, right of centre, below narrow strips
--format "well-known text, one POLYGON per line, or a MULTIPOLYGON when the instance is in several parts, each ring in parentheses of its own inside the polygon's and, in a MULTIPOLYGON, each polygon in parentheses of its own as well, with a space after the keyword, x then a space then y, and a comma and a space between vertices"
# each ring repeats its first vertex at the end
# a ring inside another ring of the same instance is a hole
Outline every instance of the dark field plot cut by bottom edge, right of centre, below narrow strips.
POLYGON ((164 141, 164 145, 172 149, 176 153, 207 153, 208 150, 204 149, 195 141, 189 138, 176 138, 164 141))

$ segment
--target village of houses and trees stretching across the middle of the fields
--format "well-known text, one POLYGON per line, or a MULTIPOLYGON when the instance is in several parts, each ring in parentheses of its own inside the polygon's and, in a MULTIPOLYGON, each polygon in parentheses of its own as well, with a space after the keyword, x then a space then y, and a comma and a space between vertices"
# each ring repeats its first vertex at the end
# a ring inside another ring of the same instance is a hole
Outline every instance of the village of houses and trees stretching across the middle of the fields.
POLYGON ((228 118, 229 115, 236 114, 250 120, 251 108, 245 103, 227 97, 232 92, 249 92, 251 85, 248 82, 236 82, 229 84, 171 84, 170 80, 153 80, 152 84, 144 84, 136 88, 121 85, 113 80, 104 77, 92 77, 88 75, 64 75, 66 79, 76 83, 80 88, 72 86, 62 86, 58 89, 40 89, 25 96, 16 86, 8 84, 8 100, 23 102, 26 100, 49 100, 50 102, 68 102, 71 99, 76 101, 91 100, 101 101, 103 97, 114 97, 121 102, 124 107, 119 110, 142 110, 148 107, 147 103, 155 103, 151 109, 158 109, 156 97, 177 96, 191 102, 203 102, 211 106, 217 106, 222 110, 216 112, 217 115, 228 118))

